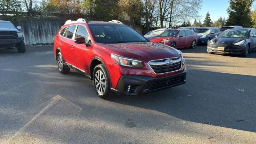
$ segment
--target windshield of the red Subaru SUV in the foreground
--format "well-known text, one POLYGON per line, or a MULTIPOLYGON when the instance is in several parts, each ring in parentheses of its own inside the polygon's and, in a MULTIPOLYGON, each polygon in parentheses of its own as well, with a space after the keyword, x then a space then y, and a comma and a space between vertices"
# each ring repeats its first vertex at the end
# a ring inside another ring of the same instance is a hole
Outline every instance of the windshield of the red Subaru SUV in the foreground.
POLYGON ((98 43, 148 42, 146 38, 128 26, 117 24, 89 25, 94 40, 98 43))

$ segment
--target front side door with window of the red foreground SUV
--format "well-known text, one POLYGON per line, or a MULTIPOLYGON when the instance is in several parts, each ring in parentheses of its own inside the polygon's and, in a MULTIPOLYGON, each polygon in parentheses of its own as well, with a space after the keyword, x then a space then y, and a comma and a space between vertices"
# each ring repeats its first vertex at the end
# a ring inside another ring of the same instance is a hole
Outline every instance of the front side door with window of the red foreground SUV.
MULTIPOLYGON (((86 30, 86 27, 83 25, 78 25, 76 28, 76 33, 74 35, 75 38, 84 37, 86 40, 86 43, 88 42, 88 31, 86 30)), ((88 50, 89 48, 86 47, 85 44, 78 44, 73 42, 74 49, 72 50, 72 60, 74 62, 74 66, 78 68, 78 70, 81 70, 82 72, 85 72, 86 74, 89 74, 88 70, 88 50)))

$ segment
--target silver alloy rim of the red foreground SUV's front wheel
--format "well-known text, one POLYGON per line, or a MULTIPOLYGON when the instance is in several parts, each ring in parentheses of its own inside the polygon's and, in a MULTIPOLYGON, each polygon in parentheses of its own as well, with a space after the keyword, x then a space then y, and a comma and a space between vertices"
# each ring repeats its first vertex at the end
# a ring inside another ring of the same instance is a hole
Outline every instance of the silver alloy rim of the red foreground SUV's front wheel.
POLYGON ((99 94, 104 94, 106 91, 106 77, 101 70, 98 70, 94 76, 96 90, 99 94))

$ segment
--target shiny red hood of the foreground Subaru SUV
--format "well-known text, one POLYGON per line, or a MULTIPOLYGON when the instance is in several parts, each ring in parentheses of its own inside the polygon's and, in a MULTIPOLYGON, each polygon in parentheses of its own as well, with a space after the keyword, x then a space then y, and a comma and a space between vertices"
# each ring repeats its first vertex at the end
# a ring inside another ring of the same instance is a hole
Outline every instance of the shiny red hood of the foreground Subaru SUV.
POLYGON ((138 60, 154 60, 161 58, 171 58, 180 56, 178 50, 154 42, 132 42, 122 44, 100 44, 103 48, 108 48, 120 56, 134 58, 138 60), (151 59, 152 60, 152 59, 151 59))

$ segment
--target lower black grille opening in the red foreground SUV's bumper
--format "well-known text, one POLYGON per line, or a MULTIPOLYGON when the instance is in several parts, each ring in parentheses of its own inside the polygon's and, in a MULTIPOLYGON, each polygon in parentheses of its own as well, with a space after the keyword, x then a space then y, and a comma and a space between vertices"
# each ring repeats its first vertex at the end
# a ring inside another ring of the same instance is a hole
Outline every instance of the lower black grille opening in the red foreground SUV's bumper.
POLYGON ((158 88, 171 87, 171 86, 174 86, 175 84, 179 84, 183 81, 184 81, 183 76, 179 76, 176 78, 169 78, 169 79, 165 79, 165 80, 152 82, 152 84, 149 87, 149 90, 156 90, 158 88))

